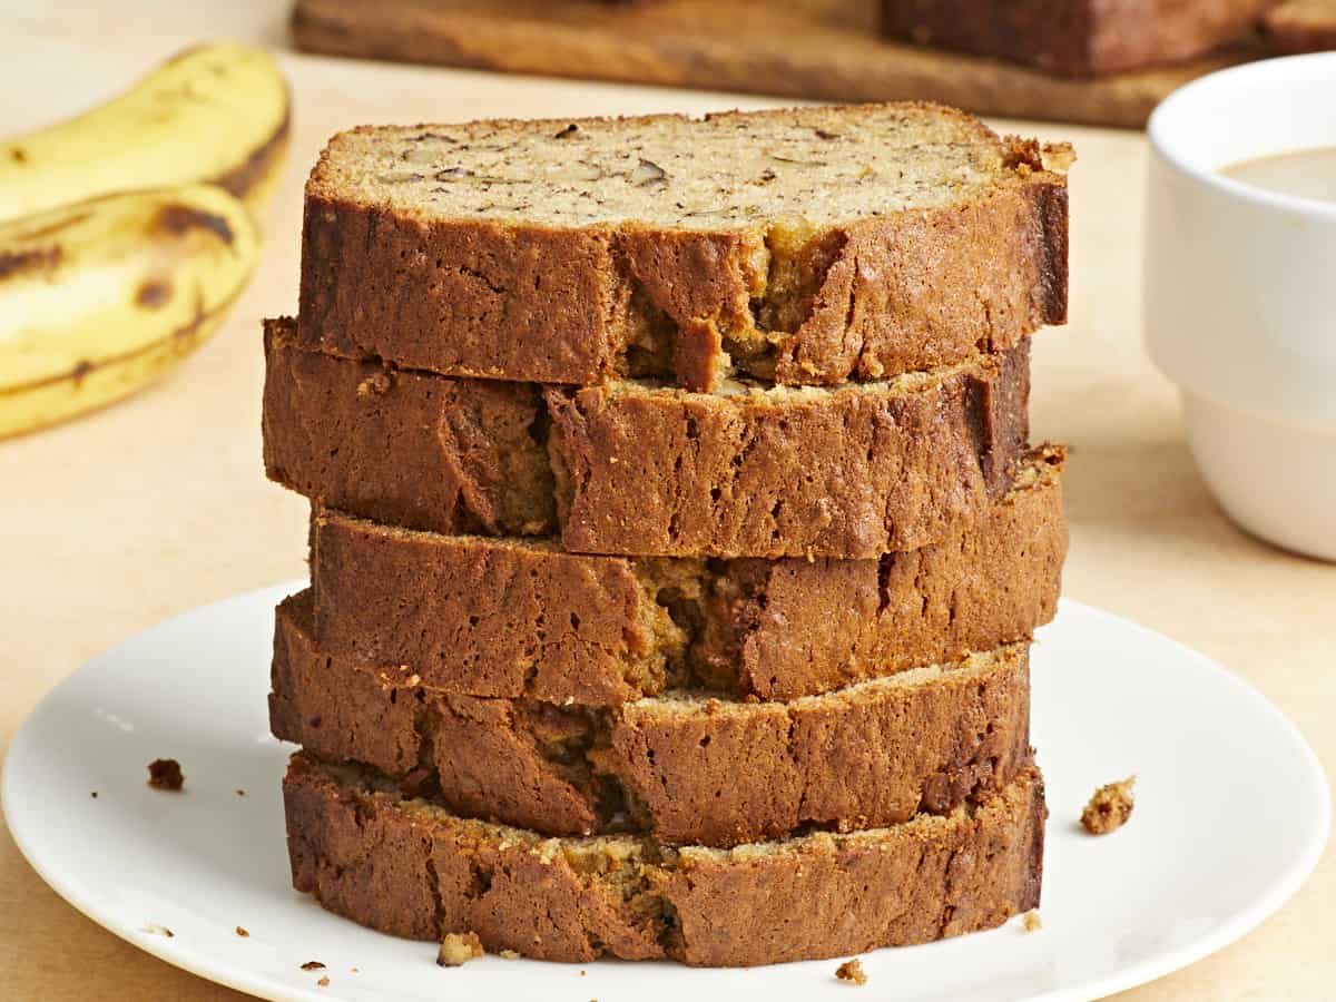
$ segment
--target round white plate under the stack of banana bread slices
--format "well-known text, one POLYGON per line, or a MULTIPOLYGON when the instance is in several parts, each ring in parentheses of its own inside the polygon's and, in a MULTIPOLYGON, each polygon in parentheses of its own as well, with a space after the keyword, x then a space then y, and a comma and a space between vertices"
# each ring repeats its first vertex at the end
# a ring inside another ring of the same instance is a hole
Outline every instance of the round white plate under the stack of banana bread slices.
MULTIPOLYGON (((851 998, 836 961, 739 971, 486 957, 442 970, 433 946, 363 930, 291 891, 279 799, 289 748, 269 736, 265 697, 273 607, 299 587, 126 641, 23 725, 5 762, 5 815, 76 908, 164 961, 274 999, 851 998), (155 758, 180 760, 186 792, 146 786, 155 758), (303 971, 307 961, 326 966, 303 971)), ((1088 999, 1130 987, 1261 922, 1327 840, 1321 767, 1280 711, 1201 655, 1075 603, 1035 645, 1034 743, 1051 810, 1043 929, 1013 921, 864 955, 859 999, 1088 999), (1130 772, 1132 822, 1083 835, 1086 798, 1130 772)))

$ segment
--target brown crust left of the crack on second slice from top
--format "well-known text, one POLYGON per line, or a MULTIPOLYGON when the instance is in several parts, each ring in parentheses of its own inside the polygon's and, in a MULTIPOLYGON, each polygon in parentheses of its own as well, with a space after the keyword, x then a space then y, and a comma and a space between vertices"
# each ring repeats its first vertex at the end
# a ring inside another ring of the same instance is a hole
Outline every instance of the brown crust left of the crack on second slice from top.
POLYGON ((266 321, 265 362, 270 478, 390 525, 553 530, 537 387, 335 361, 299 350, 286 321, 266 321))

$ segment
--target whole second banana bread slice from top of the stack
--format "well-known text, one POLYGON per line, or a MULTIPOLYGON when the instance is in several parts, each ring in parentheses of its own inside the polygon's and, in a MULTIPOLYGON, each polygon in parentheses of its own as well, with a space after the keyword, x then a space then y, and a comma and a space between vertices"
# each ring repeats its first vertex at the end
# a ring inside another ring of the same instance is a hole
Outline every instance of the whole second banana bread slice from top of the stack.
POLYGON ((266 327, 265 464, 354 514, 645 556, 875 557, 1006 493, 1029 433, 1029 342, 839 389, 687 393, 406 373, 266 327))

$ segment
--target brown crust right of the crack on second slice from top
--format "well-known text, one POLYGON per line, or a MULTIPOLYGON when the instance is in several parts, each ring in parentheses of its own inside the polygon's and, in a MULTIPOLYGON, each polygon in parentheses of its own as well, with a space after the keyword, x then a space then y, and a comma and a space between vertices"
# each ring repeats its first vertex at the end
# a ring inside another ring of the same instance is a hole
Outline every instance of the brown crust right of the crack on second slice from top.
POLYGON ((914 389, 548 389, 562 544, 715 557, 926 546, 1010 488, 1029 436, 1029 373, 1022 342, 914 389))

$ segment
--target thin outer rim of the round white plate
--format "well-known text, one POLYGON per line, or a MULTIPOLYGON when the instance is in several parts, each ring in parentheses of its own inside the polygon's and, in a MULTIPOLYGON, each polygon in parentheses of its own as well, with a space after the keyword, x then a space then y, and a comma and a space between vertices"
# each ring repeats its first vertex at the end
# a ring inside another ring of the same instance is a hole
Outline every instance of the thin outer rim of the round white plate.
MULTIPOLYGON (((331 995, 327 990, 317 993, 314 989, 297 987, 286 982, 279 982, 261 970, 228 965, 218 961, 216 955, 204 947, 191 946, 186 942, 175 943, 168 947, 167 943, 171 942, 170 939, 164 939, 162 937, 148 937, 142 934, 142 930, 132 929, 119 915, 116 915, 110 906, 104 907, 102 902, 98 900, 98 895, 91 887, 69 878, 68 875, 53 872, 44 864, 40 848, 33 846, 28 839, 29 832, 23 830, 21 823, 17 828, 15 827, 11 804, 19 803, 23 796, 23 794, 17 790, 19 782, 15 778, 15 751, 19 751, 19 758, 21 760, 24 755, 24 743, 36 740, 32 737, 35 727, 33 720, 36 720, 48 704, 55 701, 67 687, 79 684, 79 676, 81 676, 86 671, 95 669, 96 665, 112 652, 142 640, 146 635, 164 629, 171 624, 176 624, 183 619, 195 616, 206 617, 210 613, 216 613, 220 607, 226 605, 248 605, 262 600, 267 601, 266 596, 281 596, 281 593, 299 591, 305 587, 305 578, 291 578, 279 584, 238 592, 178 612, 174 616, 159 620, 158 623, 136 631, 135 633, 131 633, 115 644, 99 651, 96 655, 83 661, 72 672, 65 675, 60 681, 51 687, 51 689, 48 689, 36 704, 33 704, 29 712, 24 716, 23 721, 19 724, 19 728, 15 731, 8 747, 4 749, 4 766, 3 774, 0 774, 0 811, 4 814, 5 827, 8 828, 15 846, 19 848, 24 860, 33 868, 37 876, 41 878, 41 880, 67 904, 106 929, 108 933, 158 958, 159 961, 236 991, 259 995, 261 998, 279 999, 281 1002, 285 1002, 286 999, 298 999, 301 1002, 309 1002, 311 999, 331 999, 337 998, 337 995, 331 995)), ((1157 981, 1158 978, 1182 970, 1225 949, 1226 946, 1230 946, 1253 931, 1265 919, 1276 914, 1304 886, 1304 883, 1307 883, 1308 878, 1312 875, 1325 852, 1332 828, 1331 787, 1328 784, 1327 771, 1321 759, 1317 756, 1316 751, 1313 751, 1308 739, 1304 737, 1299 725, 1283 709, 1280 709, 1280 707, 1272 703, 1272 700, 1268 699, 1256 685, 1230 671, 1216 659, 1188 647, 1182 641, 1117 613, 1067 597, 1062 597, 1059 600, 1057 615, 1061 616, 1063 611, 1075 616, 1089 616, 1104 620, 1110 625, 1116 625, 1118 629, 1132 631, 1142 639, 1150 640, 1156 644, 1168 644, 1174 648, 1176 655, 1180 657, 1196 661, 1200 667, 1221 676, 1222 681, 1233 685, 1240 695, 1249 697, 1249 701, 1257 707, 1259 712, 1264 712, 1271 716, 1272 723, 1279 725, 1279 731, 1284 733, 1285 739, 1292 745, 1295 745, 1297 760, 1304 766, 1303 786, 1308 788, 1305 800, 1311 799, 1317 814, 1315 823, 1312 824, 1312 831, 1303 843, 1301 851, 1296 852, 1287 862, 1287 864, 1281 868, 1280 875, 1248 907, 1230 915, 1229 919, 1216 926, 1212 931, 1197 937, 1180 947, 1166 950, 1160 955, 1120 969, 1114 974, 1096 981, 1082 982, 1079 985, 1058 987, 1038 995, 1027 995, 1025 997, 1025 1002, 1077 1002, 1078 999, 1102 998, 1157 981)), ((375 935, 371 930, 366 931, 370 935, 375 935)))

